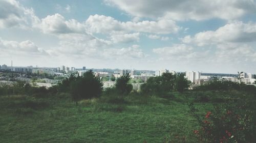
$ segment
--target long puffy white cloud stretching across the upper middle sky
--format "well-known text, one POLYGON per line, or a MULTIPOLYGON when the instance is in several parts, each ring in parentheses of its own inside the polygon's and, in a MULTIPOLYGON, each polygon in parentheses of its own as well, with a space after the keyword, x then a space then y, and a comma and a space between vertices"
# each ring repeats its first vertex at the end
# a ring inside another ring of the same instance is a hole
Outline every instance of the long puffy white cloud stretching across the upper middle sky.
POLYGON ((92 33, 109 33, 110 31, 142 32, 155 34, 177 33, 181 27, 170 19, 158 21, 121 22, 113 17, 104 15, 91 15, 86 20, 88 31, 92 33))

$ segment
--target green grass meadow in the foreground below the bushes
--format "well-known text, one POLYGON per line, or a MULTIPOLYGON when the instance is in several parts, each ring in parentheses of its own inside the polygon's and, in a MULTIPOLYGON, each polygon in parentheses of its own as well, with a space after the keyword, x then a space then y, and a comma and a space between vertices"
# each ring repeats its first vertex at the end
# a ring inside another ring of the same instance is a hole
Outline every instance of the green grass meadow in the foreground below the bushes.
MULTIPOLYGON (((0 142, 197 142, 198 124, 186 104, 194 97, 183 97, 134 94, 76 105, 66 94, 0 96, 0 142)), ((196 106, 202 115, 210 109, 196 106)))

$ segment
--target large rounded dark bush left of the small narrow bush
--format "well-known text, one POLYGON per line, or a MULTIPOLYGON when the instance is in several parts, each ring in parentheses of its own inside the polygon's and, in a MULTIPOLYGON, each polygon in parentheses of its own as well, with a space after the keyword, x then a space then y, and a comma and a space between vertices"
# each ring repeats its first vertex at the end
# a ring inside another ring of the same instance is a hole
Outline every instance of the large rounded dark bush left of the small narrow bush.
POLYGON ((102 92, 102 82, 93 71, 84 73, 83 77, 77 77, 70 84, 70 93, 75 101, 99 97, 102 92))

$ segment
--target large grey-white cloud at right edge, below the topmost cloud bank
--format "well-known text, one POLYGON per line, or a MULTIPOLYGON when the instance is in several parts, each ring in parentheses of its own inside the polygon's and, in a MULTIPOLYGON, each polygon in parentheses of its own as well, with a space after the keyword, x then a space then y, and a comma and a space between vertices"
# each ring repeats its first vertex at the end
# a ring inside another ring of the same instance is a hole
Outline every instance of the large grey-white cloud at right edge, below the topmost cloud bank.
POLYGON ((205 31, 194 37, 186 36, 184 43, 195 43, 198 46, 220 43, 244 43, 256 41, 256 23, 230 22, 216 31, 205 31))

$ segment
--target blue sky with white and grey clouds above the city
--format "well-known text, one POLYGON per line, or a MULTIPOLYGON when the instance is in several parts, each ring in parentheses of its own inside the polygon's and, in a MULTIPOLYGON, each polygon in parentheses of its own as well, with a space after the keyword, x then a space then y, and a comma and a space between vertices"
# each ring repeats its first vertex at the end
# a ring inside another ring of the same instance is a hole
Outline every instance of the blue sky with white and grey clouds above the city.
POLYGON ((0 0, 0 65, 256 73, 254 0, 0 0))

